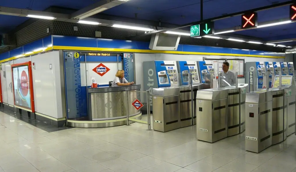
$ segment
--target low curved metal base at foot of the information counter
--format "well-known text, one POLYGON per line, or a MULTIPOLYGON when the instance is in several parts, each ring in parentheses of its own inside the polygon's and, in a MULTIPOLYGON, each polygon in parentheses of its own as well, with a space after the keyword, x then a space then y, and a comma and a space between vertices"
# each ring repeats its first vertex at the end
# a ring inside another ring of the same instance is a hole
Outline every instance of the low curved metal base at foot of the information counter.
MULTIPOLYGON (((133 116, 134 119, 142 119, 142 113, 133 116)), ((133 123, 133 122, 130 122, 133 123)), ((68 120, 67 126, 79 127, 79 128, 101 128, 101 127, 115 127, 120 125, 126 125, 126 118, 118 120, 104 120, 104 121, 76 121, 68 120)))

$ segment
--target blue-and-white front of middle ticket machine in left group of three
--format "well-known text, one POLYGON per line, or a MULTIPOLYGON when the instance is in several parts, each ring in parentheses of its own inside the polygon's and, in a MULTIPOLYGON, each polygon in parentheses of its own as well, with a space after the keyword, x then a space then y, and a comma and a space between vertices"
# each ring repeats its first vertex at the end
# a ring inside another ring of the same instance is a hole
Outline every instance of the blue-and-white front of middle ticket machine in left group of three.
POLYGON ((189 73, 192 74, 192 84, 200 83, 196 61, 177 61, 177 67, 181 73, 180 85, 189 84, 189 73))

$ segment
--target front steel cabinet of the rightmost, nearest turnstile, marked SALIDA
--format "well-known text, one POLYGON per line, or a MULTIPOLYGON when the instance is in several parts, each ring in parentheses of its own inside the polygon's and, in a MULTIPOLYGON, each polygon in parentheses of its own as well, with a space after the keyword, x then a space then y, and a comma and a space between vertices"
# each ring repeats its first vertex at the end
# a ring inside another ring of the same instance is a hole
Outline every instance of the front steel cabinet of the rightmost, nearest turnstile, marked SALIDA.
POLYGON ((259 153, 271 146, 272 91, 252 91, 246 96, 246 150, 259 153))

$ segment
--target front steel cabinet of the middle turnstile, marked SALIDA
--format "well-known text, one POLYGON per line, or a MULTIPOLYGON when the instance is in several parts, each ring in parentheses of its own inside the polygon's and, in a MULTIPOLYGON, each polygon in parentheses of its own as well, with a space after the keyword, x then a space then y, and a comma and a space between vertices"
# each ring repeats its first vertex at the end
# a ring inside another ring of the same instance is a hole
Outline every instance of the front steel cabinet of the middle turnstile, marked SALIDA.
POLYGON ((197 139, 213 143, 227 137, 227 89, 198 90, 196 99, 197 139))

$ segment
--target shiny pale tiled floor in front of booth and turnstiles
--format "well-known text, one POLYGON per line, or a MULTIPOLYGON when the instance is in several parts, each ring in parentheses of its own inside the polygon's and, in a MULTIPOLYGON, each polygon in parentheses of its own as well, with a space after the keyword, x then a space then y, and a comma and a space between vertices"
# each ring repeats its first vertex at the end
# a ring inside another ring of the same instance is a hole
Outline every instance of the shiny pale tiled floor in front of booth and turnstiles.
POLYGON ((143 124, 46 132, 0 112, 0 172, 296 172, 296 137, 256 154, 244 134, 213 144, 196 127, 143 124))

